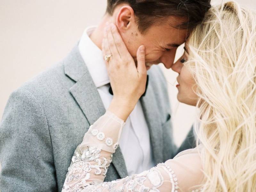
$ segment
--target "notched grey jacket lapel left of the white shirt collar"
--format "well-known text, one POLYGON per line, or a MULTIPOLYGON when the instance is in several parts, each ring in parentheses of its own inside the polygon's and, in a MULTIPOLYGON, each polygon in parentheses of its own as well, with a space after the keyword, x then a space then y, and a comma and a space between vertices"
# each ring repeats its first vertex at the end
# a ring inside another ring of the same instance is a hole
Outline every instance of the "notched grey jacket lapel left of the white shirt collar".
MULTIPOLYGON (((65 74, 76 83, 69 89, 89 124, 93 124, 106 112, 100 94, 76 46, 64 64, 65 74)), ((88 127, 89 128, 89 127, 88 127)), ((87 130, 88 130, 87 128, 87 130)), ((86 130, 86 131, 87 131, 86 130)), ((120 177, 126 177, 127 170, 120 148, 113 154, 112 164, 120 177)))

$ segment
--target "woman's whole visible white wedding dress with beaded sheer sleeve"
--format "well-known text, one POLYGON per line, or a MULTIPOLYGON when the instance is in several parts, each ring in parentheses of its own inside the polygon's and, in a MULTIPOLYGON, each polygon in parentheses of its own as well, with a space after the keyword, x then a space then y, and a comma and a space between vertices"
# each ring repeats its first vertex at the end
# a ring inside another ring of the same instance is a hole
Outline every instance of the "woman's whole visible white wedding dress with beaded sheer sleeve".
POLYGON ((62 192, 180 192, 200 191, 203 180, 199 153, 189 149, 174 159, 124 179, 103 182, 124 121, 107 111, 85 133, 76 148, 62 192))

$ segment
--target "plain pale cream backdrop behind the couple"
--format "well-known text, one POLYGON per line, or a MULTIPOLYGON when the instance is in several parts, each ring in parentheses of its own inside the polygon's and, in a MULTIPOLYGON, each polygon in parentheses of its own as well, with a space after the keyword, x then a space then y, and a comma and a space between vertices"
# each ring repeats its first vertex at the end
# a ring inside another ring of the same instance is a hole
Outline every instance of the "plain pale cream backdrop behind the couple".
MULTIPOLYGON (((8 97, 21 84, 62 60, 84 29, 97 25, 107 0, 0 0, 0 119, 8 97)), ((213 0, 212 4, 221 2, 213 0)), ((255 8, 255 0, 239 0, 255 8)), ((176 58, 182 54, 178 49, 176 58)), ((163 67, 169 82, 174 139, 180 145, 194 121, 195 108, 176 99, 177 73, 163 67)), ((1 169, 1 166, 0 166, 1 169)))

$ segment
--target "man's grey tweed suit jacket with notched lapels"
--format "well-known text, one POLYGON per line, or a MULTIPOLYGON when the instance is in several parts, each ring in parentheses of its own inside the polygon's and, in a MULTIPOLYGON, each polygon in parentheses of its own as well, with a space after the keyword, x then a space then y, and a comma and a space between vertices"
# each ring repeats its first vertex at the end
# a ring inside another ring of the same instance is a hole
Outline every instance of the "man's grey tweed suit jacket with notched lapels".
MULTIPOLYGON (((176 147, 164 76, 157 66, 148 74, 148 90, 141 104, 157 164, 172 158, 176 147)), ((0 190, 60 192, 77 145, 104 113, 76 46, 59 64, 12 92, 0 124, 0 190)), ((105 181, 125 176, 118 148, 105 181)))

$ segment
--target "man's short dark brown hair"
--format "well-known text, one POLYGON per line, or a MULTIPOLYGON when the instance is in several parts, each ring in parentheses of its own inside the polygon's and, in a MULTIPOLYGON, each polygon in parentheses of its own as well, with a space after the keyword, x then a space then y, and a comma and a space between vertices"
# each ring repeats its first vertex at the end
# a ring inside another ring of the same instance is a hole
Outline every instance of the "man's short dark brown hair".
POLYGON ((211 0, 108 0, 107 13, 112 15, 117 5, 129 4, 136 16, 141 33, 156 23, 166 22, 164 17, 176 16, 184 18, 179 29, 193 29, 204 19, 205 13, 211 7, 211 0))

